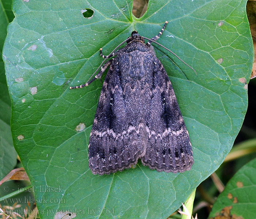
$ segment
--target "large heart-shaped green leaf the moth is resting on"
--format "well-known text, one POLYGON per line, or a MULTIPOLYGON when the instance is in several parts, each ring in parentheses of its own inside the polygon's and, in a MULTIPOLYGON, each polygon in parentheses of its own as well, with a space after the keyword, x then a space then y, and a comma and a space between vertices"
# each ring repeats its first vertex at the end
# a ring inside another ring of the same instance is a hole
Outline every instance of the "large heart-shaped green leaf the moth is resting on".
POLYGON ((13 1, 16 17, 8 27, 4 57, 15 148, 35 196, 59 200, 37 203, 42 219, 53 218, 57 209, 76 210, 76 218, 167 218, 219 167, 247 108, 253 46, 245 5, 246 0, 151 0, 146 14, 136 19, 132 0, 13 1), (86 8, 94 11, 90 19, 83 17, 86 8), (197 72, 155 46, 184 116, 195 163, 185 173, 159 173, 138 162, 134 169, 95 176, 88 168, 87 145, 102 84, 69 86, 89 79, 102 62, 101 47, 110 53, 133 30, 154 37, 165 20, 158 42, 197 72))

